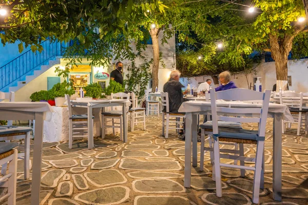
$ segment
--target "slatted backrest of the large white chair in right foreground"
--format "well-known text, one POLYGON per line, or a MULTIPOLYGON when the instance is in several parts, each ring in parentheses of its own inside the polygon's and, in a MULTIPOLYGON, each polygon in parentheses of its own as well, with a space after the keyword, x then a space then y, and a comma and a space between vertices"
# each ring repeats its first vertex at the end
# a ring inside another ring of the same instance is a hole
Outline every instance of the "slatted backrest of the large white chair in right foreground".
POLYGON ((213 133, 218 134, 218 121, 259 122, 259 136, 265 136, 265 126, 271 91, 257 92, 248 89, 230 89, 215 92, 210 90, 211 114, 213 119, 213 133), (216 100, 263 100, 261 108, 232 108, 218 107, 216 100), (228 116, 224 116, 228 115, 228 116), (252 117, 238 117, 239 115, 252 117))

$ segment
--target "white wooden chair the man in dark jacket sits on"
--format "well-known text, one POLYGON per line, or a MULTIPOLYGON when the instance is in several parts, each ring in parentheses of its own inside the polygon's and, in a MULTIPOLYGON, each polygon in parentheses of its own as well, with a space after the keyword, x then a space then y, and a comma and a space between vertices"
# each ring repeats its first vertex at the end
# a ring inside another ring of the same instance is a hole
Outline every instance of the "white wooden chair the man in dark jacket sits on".
POLYGON ((183 128, 181 128, 182 126, 184 126, 184 119, 185 118, 185 114, 184 113, 171 113, 169 112, 169 95, 167 92, 161 92, 161 97, 162 97, 162 107, 163 107, 163 112, 162 112, 162 116, 163 116, 163 133, 162 135, 165 136, 165 138, 168 138, 168 134, 169 134, 169 130, 177 130, 180 131, 183 128), (165 119, 166 116, 166 119, 165 119), (181 121, 181 118, 183 119, 181 121), (166 120, 166 122, 165 122, 166 120), (169 125, 171 124, 172 125, 169 125), (182 126, 181 126, 182 125, 182 126), (165 126, 166 126, 166 134, 165 134, 165 126))

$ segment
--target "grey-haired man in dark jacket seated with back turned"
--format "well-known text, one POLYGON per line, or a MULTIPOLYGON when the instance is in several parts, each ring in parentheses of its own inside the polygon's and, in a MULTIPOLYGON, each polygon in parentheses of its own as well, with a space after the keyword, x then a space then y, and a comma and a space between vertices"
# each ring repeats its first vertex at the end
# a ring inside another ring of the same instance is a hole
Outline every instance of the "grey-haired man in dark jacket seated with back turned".
MULTIPOLYGON (((168 93, 169 96, 169 112, 177 113, 182 105, 184 98, 182 88, 184 86, 179 82, 180 71, 174 70, 170 73, 170 79, 165 83, 163 91, 168 93)), ((189 91, 185 91, 189 92, 189 91)))

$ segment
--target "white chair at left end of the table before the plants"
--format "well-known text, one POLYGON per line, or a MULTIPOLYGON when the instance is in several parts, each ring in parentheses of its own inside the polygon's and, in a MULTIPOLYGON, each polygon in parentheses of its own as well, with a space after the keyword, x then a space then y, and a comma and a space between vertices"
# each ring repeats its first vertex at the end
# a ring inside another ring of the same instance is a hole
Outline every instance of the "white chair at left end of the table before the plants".
MULTIPOLYGON (((73 115, 72 114, 72 106, 70 103, 69 95, 65 95, 65 99, 67 100, 67 108, 68 108, 68 117, 69 117, 69 138, 68 138, 68 148, 72 149, 73 137, 88 137, 88 115, 73 115)), ((92 116, 91 120, 94 119, 92 116)), ((93 125, 93 124, 92 124, 93 125)), ((90 139, 88 139, 89 141, 90 139)))

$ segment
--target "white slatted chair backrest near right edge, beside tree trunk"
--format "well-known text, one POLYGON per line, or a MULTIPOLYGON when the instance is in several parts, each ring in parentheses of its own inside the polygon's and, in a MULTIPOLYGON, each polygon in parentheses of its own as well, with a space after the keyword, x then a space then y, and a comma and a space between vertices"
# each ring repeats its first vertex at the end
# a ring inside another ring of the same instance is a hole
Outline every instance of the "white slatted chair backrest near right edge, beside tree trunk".
POLYGON ((279 93, 279 100, 281 105, 296 107, 301 110, 303 105, 303 93, 279 93))

